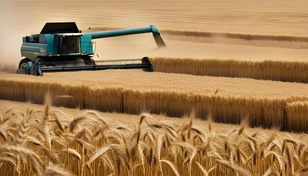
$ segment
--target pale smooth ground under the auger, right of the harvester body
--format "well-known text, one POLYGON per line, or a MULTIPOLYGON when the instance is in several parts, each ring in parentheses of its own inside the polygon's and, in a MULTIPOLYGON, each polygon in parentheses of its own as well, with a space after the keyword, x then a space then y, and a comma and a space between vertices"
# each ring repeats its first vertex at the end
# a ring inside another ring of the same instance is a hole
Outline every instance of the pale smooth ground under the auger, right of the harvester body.
POLYGON ((144 56, 211 58, 239 60, 297 60, 307 61, 307 49, 292 49, 278 47, 263 47, 250 45, 233 45, 225 43, 201 43, 190 41, 183 36, 168 36, 161 34, 167 47, 156 48, 151 34, 128 37, 97 39, 94 59, 124 59, 142 58, 144 56))

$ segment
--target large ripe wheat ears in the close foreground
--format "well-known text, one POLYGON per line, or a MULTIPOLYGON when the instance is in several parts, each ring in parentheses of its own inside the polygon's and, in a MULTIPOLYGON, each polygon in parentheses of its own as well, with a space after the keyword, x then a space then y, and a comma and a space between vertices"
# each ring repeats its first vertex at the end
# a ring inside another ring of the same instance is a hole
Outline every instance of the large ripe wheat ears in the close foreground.
POLYGON ((246 120, 222 132, 224 124, 211 117, 207 125, 195 124, 193 112, 182 124, 141 114, 132 125, 95 111, 66 114, 51 106, 50 96, 44 107, 1 103, 15 105, 0 108, 2 175, 288 176, 307 171, 307 138, 251 129, 246 120))

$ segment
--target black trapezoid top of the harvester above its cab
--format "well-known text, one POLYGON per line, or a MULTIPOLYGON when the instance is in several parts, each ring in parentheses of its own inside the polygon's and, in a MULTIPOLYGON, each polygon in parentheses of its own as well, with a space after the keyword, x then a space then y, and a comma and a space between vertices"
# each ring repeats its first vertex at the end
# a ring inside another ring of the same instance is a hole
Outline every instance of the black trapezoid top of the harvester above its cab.
POLYGON ((79 29, 75 22, 46 23, 40 34, 54 33, 78 33, 79 29))

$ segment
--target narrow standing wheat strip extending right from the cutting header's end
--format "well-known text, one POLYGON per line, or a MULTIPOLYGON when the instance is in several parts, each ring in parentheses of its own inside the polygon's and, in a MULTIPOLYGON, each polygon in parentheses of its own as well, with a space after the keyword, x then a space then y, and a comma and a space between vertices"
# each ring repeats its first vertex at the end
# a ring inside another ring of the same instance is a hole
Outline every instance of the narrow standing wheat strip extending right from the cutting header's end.
POLYGON ((151 58, 154 71, 308 83, 308 61, 151 58))

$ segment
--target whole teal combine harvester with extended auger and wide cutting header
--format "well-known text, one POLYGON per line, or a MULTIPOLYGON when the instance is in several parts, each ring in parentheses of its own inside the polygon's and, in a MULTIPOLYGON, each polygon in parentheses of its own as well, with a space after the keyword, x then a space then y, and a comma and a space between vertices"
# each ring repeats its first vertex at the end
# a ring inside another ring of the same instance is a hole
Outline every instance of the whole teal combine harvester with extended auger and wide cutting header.
POLYGON ((145 28, 81 33, 75 23, 46 23, 40 34, 23 37, 18 74, 43 75, 44 72, 146 68, 153 71, 148 57, 142 59, 93 60, 92 39, 152 32, 158 47, 166 44, 159 30, 145 28))

